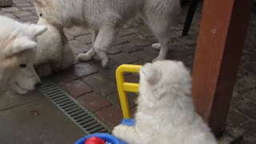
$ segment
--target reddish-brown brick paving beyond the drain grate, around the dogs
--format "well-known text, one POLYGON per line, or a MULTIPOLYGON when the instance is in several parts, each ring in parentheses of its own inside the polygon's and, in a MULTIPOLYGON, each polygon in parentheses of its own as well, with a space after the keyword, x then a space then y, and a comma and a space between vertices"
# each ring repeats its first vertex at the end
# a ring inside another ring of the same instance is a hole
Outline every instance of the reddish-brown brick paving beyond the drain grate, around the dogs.
MULTIPOLYGON (((192 69, 194 50, 198 36, 202 6, 194 16, 190 35, 181 37, 186 10, 177 25, 171 28, 169 59, 181 60, 192 69)), ((14 6, 1 8, 0 14, 22 22, 37 22, 38 17, 30 0, 14 0, 14 6)), ((91 46, 90 30, 73 27, 65 29, 75 54, 86 52, 91 46)), ((156 42, 150 30, 141 21, 130 22, 120 31, 109 51, 110 63, 104 69, 98 60, 74 62, 69 70, 53 74, 50 78, 62 86, 71 96, 81 102, 99 118, 113 127, 122 119, 115 82, 115 70, 123 63, 144 64, 151 62, 158 54, 150 45, 156 42)), ((234 86, 230 113, 226 127, 230 137, 245 132, 243 144, 256 143, 256 15, 251 15, 250 27, 244 46, 237 82, 234 86)), ((138 82, 137 74, 126 74, 126 80, 138 82)), ((129 94, 130 108, 134 112, 135 94, 129 94)))

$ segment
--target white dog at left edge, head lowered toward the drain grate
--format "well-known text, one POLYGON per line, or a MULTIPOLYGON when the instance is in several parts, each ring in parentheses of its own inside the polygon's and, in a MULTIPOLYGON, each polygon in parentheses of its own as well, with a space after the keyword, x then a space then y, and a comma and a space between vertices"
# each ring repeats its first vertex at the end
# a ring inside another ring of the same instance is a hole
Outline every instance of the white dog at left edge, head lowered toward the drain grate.
POLYGON ((38 50, 36 38, 46 31, 46 27, 1 15, 0 23, 0 95, 10 89, 26 94, 40 82, 33 63, 38 50))

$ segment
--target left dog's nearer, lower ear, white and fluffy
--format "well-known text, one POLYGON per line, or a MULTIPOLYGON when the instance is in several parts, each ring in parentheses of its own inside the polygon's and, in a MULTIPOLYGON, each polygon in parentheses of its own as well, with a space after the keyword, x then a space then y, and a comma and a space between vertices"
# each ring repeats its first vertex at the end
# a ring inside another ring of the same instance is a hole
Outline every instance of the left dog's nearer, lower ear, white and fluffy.
POLYGON ((5 47, 4 54, 6 58, 10 58, 22 51, 35 49, 37 46, 38 44, 30 40, 28 37, 14 38, 13 40, 10 40, 8 45, 5 47))

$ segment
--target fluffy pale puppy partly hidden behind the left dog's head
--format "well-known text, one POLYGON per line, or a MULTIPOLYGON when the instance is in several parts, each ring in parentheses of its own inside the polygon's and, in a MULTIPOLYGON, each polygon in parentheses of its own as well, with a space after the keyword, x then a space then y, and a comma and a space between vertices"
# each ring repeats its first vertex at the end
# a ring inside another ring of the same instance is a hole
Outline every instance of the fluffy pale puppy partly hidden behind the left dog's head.
POLYGON ((39 18, 38 25, 47 27, 47 31, 38 36, 38 58, 34 62, 38 75, 42 77, 53 70, 70 67, 74 62, 74 53, 63 28, 51 25, 44 18, 39 18))

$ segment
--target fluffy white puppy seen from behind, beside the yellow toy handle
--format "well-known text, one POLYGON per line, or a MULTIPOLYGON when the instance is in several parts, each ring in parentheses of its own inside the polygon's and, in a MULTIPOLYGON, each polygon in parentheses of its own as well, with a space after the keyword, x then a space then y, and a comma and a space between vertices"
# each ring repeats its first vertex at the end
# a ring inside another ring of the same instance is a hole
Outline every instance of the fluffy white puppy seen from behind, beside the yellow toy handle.
POLYGON ((112 134, 130 144, 216 144, 195 112, 190 71, 182 62, 158 61, 140 70, 135 126, 118 125, 112 134))

